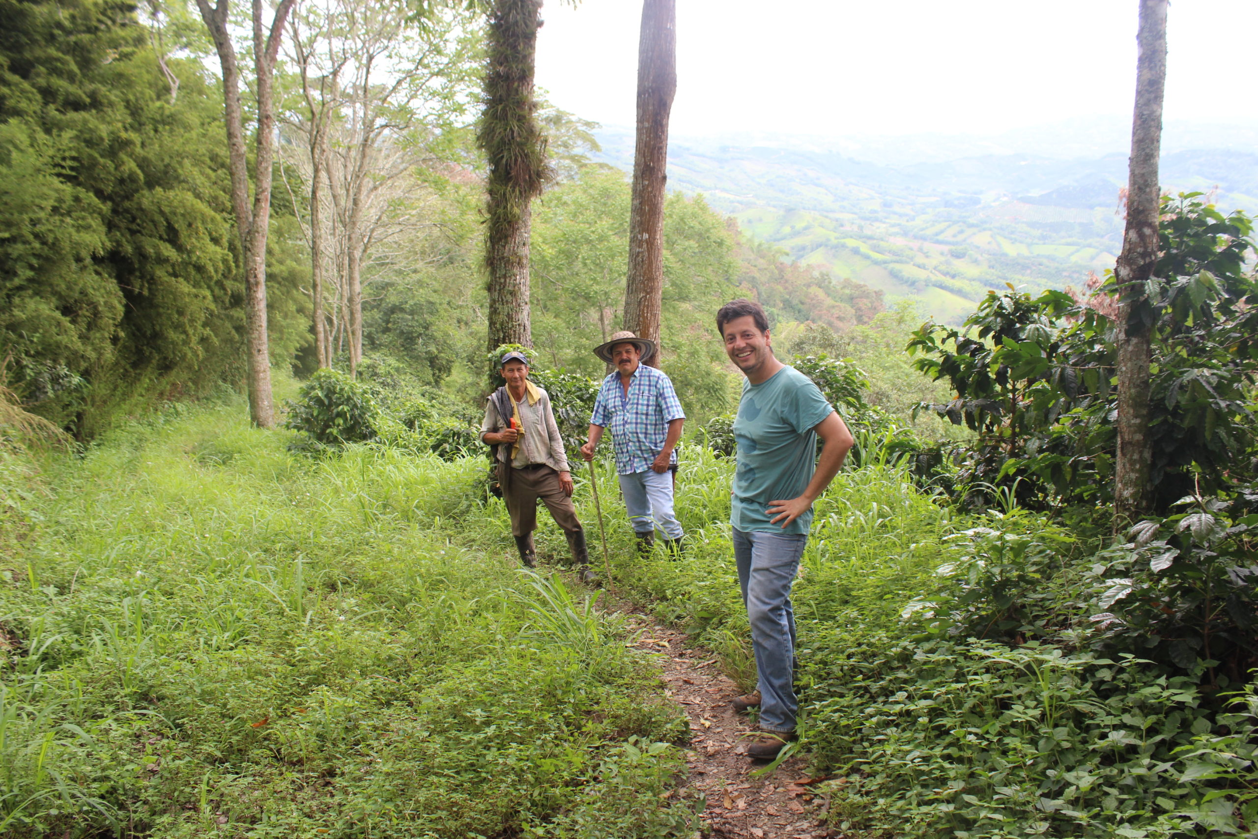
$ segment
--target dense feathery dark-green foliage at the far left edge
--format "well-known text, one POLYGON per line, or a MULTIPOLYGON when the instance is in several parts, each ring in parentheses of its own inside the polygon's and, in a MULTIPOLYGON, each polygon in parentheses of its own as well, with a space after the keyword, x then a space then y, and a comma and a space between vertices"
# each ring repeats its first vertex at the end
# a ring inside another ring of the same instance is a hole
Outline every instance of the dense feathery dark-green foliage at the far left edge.
POLYGON ((218 112, 170 88, 133 6, 4 0, 0 343, 15 391, 81 433, 237 361, 218 112))

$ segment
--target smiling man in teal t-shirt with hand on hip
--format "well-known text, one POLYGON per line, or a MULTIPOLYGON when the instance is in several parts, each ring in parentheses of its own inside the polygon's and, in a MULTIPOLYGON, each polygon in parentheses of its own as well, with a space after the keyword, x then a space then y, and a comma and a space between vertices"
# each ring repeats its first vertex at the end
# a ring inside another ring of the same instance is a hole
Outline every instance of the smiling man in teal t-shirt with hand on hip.
POLYGON ((733 701, 760 707, 764 736, 747 756, 772 760, 795 731, 795 618, 790 590, 813 523, 813 502, 843 465, 854 440, 813 381, 777 361, 759 303, 737 299, 716 316, 730 360, 743 372, 733 421, 738 469, 730 523, 738 585, 751 624, 757 689, 733 701), (816 458, 816 438, 823 442, 816 458))

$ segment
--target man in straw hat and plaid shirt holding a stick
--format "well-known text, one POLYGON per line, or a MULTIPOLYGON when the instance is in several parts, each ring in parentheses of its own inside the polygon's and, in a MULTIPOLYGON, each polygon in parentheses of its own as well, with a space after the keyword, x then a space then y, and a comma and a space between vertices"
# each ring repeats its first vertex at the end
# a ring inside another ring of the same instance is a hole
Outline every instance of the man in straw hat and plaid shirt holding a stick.
POLYGON ((672 552, 682 546, 682 525, 673 512, 674 447, 682 436, 686 413, 662 371, 642 364, 655 355, 655 345, 633 332, 616 332, 594 355, 616 371, 603 380, 590 418, 590 440, 581 447, 586 460, 594 459, 603 430, 611 429, 620 493, 638 550, 650 551, 659 531, 672 552))

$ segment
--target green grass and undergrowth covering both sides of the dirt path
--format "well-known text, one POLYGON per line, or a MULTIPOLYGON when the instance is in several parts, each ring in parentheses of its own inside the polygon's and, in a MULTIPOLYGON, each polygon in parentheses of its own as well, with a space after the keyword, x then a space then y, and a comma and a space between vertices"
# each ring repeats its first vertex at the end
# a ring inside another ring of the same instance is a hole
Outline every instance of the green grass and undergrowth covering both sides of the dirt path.
MULTIPOLYGON (((483 457, 379 442, 311 457, 292 439, 239 406, 194 409, 42 474, 5 460, 8 834, 693 833, 693 808, 659 797, 682 767, 662 743, 684 727, 652 665, 615 615, 515 569, 483 457)), ((794 594, 799 748, 833 779, 834 825, 1252 833, 1258 698, 1203 650, 1180 667, 1165 638, 1136 643, 1200 605, 1175 538, 1222 555, 1247 520, 1200 538, 1183 522, 1204 520, 1167 520, 1106 547, 1013 504, 957 513, 893 460, 871 448, 818 502, 794 594), (1176 614, 1144 615, 1155 601, 1176 614)), ((616 592, 754 686, 732 458, 683 445, 679 558, 637 556, 614 469, 595 468, 616 592)), ((589 473, 574 477, 593 533, 589 473)), ((562 564, 540 525, 541 557, 562 564)))

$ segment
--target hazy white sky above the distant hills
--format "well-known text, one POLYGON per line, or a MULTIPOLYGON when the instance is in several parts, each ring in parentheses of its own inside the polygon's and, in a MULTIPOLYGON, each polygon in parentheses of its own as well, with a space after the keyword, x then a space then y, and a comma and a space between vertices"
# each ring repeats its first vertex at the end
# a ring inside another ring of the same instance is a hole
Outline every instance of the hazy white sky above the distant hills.
MULTIPOLYGON (((634 122, 640 0, 546 0, 537 83, 634 122)), ((677 0, 678 135, 990 133, 1130 118, 1136 0, 677 0)), ((1166 119, 1252 123, 1258 0, 1176 0, 1166 119)))

